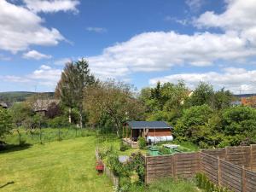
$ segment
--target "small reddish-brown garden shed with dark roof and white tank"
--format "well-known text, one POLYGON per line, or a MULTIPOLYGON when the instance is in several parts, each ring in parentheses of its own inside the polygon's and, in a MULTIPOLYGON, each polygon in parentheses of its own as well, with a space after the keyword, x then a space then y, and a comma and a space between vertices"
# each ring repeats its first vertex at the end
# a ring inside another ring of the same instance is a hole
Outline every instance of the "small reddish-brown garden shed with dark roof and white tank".
MULTIPOLYGON (((144 137, 148 143, 172 141, 173 127, 164 121, 127 121, 123 127, 126 143, 137 143, 138 137, 144 137)), ((132 147, 132 144, 131 144, 132 147)))

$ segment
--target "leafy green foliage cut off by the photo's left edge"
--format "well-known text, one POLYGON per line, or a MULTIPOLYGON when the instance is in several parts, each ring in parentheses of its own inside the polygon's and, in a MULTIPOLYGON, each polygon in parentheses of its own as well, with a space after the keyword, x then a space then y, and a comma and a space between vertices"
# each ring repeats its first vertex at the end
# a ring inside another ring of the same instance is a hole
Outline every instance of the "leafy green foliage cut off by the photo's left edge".
POLYGON ((12 117, 9 114, 9 111, 0 108, 0 138, 4 136, 4 134, 8 133, 13 127, 12 117))

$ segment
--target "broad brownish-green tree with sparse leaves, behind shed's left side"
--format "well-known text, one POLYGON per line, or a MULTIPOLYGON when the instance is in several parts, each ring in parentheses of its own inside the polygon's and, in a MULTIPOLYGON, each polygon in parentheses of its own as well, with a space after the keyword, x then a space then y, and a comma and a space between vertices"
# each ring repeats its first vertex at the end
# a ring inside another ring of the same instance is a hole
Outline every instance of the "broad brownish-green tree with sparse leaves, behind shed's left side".
POLYGON ((84 109, 89 112, 91 124, 97 124, 107 115, 119 136, 119 130, 126 120, 142 118, 143 105, 134 97, 129 84, 108 80, 91 85, 84 92, 84 109))

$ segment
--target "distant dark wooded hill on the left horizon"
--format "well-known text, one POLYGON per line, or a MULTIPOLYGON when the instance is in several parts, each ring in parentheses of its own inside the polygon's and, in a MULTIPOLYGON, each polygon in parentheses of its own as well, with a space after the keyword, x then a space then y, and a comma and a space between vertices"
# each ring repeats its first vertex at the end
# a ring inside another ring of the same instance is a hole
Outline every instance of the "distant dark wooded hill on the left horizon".
MULTIPOLYGON (((27 91, 10 91, 10 92, 0 92, 0 102, 6 102, 9 106, 13 102, 23 102, 27 97, 38 94, 37 92, 27 92, 27 91)), ((44 92, 43 94, 53 97, 54 92, 44 92)))

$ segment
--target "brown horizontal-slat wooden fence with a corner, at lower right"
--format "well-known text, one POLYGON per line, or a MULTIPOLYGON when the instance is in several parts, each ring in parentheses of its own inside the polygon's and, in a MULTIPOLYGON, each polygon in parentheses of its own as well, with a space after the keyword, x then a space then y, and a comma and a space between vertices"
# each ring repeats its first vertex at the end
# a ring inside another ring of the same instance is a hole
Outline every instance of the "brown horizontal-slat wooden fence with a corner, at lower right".
POLYGON ((256 145, 147 156, 146 183, 159 177, 194 177, 203 172, 219 186, 235 192, 256 192, 256 145), (249 170, 250 169, 250 170, 249 170))

